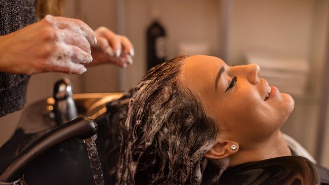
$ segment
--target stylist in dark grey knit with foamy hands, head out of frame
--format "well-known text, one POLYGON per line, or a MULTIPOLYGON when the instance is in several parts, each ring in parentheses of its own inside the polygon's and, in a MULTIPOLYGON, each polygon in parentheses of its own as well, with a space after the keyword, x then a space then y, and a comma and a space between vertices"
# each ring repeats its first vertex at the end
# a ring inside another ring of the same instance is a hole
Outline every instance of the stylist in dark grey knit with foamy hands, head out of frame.
POLYGON ((81 74, 90 62, 132 64, 127 37, 55 17, 63 5, 63 0, 0 0, 0 117, 24 106, 29 75, 81 74))

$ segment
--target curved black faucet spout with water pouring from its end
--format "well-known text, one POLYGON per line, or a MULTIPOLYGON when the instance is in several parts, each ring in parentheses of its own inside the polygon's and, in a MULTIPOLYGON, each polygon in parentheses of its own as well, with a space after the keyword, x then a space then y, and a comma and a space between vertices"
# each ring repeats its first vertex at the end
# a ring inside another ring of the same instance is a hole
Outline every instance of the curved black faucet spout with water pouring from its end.
POLYGON ((1 173, 0 184, 15 184, 24 174, 26 167, 39 155, 50 148, 73 137, 81 140, 89 138, 98 131, 96 122, 90 117, 78 117, 64 123, 40 136, 35 142, 14 158, 11 164, 1 173))

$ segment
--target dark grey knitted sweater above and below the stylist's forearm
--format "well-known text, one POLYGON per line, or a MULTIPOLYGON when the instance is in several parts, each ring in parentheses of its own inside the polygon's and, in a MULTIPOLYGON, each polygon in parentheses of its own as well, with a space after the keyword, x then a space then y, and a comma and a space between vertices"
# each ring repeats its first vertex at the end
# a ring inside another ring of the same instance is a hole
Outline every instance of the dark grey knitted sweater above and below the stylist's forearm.
MULTIPOLYGON (((0 35, 36 22, 35 0, 0 0, 0 35)), ((0 72, 0 117, 22 109, 28 75, 0 72)))

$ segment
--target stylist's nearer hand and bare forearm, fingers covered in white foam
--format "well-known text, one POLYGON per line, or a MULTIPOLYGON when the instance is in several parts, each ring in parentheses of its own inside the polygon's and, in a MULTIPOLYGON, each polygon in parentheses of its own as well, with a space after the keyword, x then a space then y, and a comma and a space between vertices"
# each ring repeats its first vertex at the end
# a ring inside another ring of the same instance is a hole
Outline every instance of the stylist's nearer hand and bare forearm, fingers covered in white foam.
POLYGON ((47 15, 11 34, 0 36, 0 71, 16 74, 81 74, 91 62, 94 31, 84 22, 47 15))

